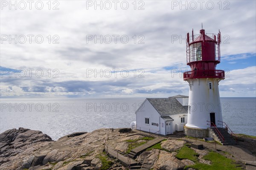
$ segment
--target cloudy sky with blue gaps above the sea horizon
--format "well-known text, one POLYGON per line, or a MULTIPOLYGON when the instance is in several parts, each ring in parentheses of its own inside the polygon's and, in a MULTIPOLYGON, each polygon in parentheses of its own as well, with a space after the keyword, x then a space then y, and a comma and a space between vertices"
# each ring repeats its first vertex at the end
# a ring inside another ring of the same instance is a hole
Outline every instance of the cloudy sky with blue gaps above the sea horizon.
POLYGON ((221 31, 221 97, 256 96, 255 0, 0 2, 1 98, 188 95, 201 23, 221 31))

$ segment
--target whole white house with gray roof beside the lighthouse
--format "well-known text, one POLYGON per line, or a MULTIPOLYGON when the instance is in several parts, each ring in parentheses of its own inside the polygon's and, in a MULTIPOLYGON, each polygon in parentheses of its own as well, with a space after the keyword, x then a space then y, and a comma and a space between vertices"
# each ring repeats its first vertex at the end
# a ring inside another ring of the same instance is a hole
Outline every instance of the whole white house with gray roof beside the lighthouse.
POLYGON ((161 135, 182 131, 187 123, 188 96, 145 99, 135 112, 136 129, 161 135))

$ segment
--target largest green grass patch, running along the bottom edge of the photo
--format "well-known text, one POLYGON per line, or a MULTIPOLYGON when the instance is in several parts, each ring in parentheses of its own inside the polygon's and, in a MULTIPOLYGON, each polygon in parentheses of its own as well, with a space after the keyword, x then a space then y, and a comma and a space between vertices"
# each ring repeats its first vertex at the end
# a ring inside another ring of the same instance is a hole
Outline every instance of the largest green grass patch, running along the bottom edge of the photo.
POLYGON ((236 164, 232 159, 228 159, 225 156, 222 156, 216 152, 209 152, 208 155, 204 156, 203 159, 209 160, 212 162, 211 165, 196 163, 194 165, 188 165, 186 168, 194 168, 196 170, 242 170, 241 165, 236 164))

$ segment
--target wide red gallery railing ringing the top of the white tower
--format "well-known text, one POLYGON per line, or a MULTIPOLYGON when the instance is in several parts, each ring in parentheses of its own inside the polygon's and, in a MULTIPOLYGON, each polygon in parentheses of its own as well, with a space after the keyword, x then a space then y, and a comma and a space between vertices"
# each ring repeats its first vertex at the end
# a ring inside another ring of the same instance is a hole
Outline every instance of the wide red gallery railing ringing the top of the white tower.
POLYGON ((196 78, 220 78, 225 79, 224 70, 197 70, 186 71, 183 73, 183 79, 196 79, 196 78))

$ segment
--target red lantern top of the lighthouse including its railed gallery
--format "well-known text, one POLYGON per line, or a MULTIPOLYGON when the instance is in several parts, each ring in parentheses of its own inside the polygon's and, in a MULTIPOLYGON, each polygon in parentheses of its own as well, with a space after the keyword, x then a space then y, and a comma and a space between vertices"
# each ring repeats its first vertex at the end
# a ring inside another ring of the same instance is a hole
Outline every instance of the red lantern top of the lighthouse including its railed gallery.
POLYGON ((204 29, 200 34, 192 36, 187 34, 187 65, 191 71, 183 74, 183 79, 195 78, 221 78, 224 79, 224 71, 216 70, 220 63, 221 32, 218 34, 205 34, 204 29))

